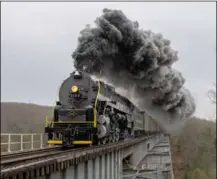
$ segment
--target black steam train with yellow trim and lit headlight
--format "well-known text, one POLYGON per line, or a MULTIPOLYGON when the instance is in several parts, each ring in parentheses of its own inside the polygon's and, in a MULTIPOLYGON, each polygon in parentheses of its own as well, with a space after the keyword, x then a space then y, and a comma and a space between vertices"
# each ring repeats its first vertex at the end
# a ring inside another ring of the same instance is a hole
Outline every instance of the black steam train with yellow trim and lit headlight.
POLYGON ((47 143, 64 147, 112 143, 157 130, 156 123, 114 87, 81 71, 61 84, 53 120, 45 127, 47 143))

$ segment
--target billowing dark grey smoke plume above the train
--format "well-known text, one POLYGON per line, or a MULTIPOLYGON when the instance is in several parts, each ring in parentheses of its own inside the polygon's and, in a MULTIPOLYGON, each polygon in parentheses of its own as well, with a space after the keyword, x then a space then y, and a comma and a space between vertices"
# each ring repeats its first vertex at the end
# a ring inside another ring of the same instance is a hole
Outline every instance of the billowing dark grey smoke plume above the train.
POLYGON ((171 67, 179 59, 169 40, 139 29, 120 10, 104 9, 95 23, 80 32, 72 54, 76 69, 119 87, 141 110, 159 109, 170 120, 193 114, 195 103, 183 87, 185 79, 171 67))

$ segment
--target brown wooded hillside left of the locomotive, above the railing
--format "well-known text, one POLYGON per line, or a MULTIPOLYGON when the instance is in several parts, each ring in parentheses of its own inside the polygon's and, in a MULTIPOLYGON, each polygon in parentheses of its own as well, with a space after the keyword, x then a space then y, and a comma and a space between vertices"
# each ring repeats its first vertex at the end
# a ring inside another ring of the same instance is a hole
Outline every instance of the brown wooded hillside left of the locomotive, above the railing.
POLYGON ((43 132, 52 107, 26 103, 1 103, 2 133, 43 132))

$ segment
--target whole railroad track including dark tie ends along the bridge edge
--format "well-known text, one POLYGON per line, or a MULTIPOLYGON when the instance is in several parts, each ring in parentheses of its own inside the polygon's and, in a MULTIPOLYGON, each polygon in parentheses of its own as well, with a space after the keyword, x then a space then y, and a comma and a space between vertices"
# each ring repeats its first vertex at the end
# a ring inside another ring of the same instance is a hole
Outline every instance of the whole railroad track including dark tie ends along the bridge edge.
POLYGON ((60 147, 37 150, 37 152, 26 151, 25 154, 7 154, 2 157, 1 176, 2 179, 8 178, 29 178, 30 174, 34 178, 44 176, 44 172, 52 172, 64 169, 73 164, 84 162, 115 150, 130 147, 138 142, 149 139, 149 136, 140 136, 111 144, 102 144, 90 147, 72 148, 59 150, 60 147), (31 157, 30 157, 31 156, 31 157), (41 173, 42 172, 42 173, 41 173))

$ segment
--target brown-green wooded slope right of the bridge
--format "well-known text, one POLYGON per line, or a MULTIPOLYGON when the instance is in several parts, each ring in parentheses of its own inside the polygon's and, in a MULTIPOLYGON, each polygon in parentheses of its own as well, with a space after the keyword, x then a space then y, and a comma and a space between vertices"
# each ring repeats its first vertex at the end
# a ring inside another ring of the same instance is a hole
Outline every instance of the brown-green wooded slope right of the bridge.
POLYGON ((175 179, 216 178, 216 123, 193 118, 171 137, 175 179))

